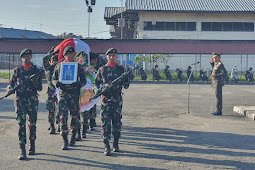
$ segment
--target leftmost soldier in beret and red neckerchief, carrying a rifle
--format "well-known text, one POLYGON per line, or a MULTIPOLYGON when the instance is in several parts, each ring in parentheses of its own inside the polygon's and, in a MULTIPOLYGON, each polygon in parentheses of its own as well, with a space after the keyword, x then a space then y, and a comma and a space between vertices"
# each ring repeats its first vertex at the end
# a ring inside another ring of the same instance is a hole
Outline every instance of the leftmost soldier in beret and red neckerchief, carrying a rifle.
POLYGON ((15 111, 16 120, 19 124, 19 145, 20 145, 20 160, 27 159, 26 156, 26 117, 28 115, 29 127, 29 155, 35 154, 36 140, 36 121, 38 109, 38 93, 42 90, 41 76, 34 76, 39 72, 39 69, 31 62, 32 50, 25 48, 21 51, 19 57, 22 59, 22 65, 14 69, 14 74, 8 84, 7 91, 12 90, 16 85, 21 84, 22 87, 16 91, 15 111), (31 79, 28 81, 27 79, 31 79), (33 77, 33 78, 32 78, 33 77), (24 81, 26 81, 24 83, 24 81))

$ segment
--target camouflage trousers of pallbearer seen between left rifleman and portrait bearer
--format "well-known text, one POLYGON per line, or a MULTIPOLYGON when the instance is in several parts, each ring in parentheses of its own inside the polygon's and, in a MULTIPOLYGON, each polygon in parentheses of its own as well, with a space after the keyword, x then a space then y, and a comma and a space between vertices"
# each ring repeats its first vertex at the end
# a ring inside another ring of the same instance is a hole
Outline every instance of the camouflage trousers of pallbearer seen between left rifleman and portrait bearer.
POLYGON ((46 109, 48 110, 48 121, 49 123, 55 122, 55 115, 56 115, 56 123, 60 122, 60 115, 58 112, 58 99, 55 96, 52 98, 47 94, 46 99, 46 109))

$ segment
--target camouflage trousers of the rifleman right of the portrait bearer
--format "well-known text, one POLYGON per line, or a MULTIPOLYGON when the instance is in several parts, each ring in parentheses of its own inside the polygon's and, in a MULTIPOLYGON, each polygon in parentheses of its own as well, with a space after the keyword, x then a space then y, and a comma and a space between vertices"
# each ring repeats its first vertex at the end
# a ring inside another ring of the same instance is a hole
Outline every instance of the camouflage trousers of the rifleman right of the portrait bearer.
POLYGON ((100 117, 102 120, 101 133, 103 142, 111 139, 111 132, 115 138, 119 138, 121 131, 122 97, 115 99, 102 99, 100 117), (111 125, 112 124, 112 125, 111 125), (112 126, 112 131, 111 131, 112 126))

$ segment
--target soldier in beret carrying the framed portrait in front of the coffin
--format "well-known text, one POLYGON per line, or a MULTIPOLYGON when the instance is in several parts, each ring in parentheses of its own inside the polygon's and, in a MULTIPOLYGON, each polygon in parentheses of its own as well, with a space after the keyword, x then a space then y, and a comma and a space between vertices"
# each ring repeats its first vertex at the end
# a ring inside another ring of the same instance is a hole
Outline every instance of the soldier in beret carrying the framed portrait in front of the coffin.
MULTIPOLYGON (((74 62, 75 58, 75 50, 71 46, 67 46, 64 50, 64 62, 74 62)), ((62 146, 63 150, 68 149, 68 110, 70 110, 71 115, 71 132, 72 137, 70 141, 70 146, 74 146, 76 142, 75 135, 79 126, 79 96, 80 96, 80 88, 86 84, 86 76, 84 73, 83 66, 78 64, 77 71, 77 82, 72 84, 63 84, 59 81, 60 77, 60 66, 61 63, 56 65, 54 73, 53 73, 53 84, 60 88, 59 90, 59 101, 58 101, 58 110, 60 114, 60 130, 61 135, 64 140, 64 144, 62 146)))

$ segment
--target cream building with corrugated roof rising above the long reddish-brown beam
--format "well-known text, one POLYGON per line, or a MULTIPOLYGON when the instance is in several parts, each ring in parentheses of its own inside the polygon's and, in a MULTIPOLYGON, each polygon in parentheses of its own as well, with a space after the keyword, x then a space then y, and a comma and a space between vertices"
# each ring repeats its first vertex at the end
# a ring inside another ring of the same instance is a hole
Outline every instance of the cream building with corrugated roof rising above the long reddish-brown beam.
POLYGON ((105 8, 112 38, 120 38, 121 12, 124 39, 255 39, 254 0, 126 0, 124 8, 105 8))

